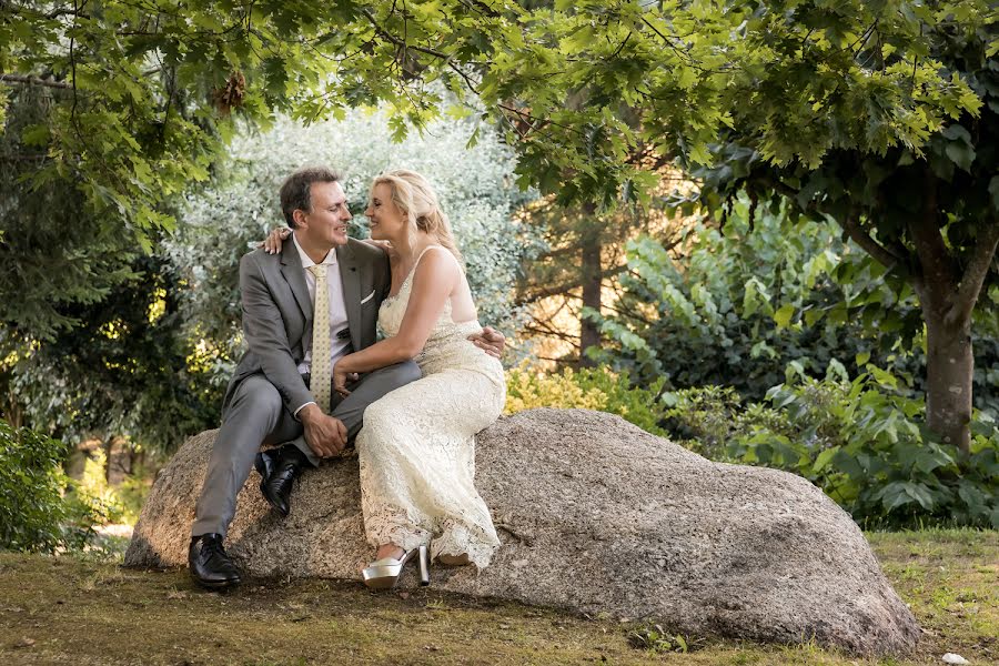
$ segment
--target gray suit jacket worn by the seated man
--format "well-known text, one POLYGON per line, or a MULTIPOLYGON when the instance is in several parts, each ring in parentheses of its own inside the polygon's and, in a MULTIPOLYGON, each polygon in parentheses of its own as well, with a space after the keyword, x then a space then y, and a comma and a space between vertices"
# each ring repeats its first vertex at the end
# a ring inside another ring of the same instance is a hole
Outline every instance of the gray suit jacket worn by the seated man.
MULTIPOLYGON (((350 239, 346 245, 336 248, 336 263, 351 346, 363 350, 375 342, 379 305, 392 287, 389 256, 377 248, 350 239)), ((285 408, 294 412, 314 398, 297 370, 312 339, 312 299, 291 235, 280 254, 254 250, 243 256, 240 294, 243 335, 250 349, 229 382, 222 403, 223 418, 240 382, 260 373, 278 389, 285 408)))

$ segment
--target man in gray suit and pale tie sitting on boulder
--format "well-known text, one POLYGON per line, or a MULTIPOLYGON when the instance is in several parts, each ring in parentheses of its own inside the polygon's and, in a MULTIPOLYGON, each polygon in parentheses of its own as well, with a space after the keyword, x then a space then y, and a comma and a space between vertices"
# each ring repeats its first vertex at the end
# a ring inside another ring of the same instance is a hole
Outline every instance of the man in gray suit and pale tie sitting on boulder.
MULTIPOLYGON (((281 253, 256 250, 240 262, 249 351, 225 394, 188 553, 191 576, 209 588, 240 582, 222 543, 251 467, 261 473, 268 502, 287 515, 301 471, 339 455, 361 430, 369 404, 420 377, 420 369, 407 361, 356 379, 345 398, 331 391, 336 359, 375 342, 379 305, 392 286, 387 255, 347 238, 352 215, 339 180, 323 168, 289 176, 281 208, 293 233, 281 253), (314 312, 316 303, 326 305, 321 310, 327 316, 314 312), (314 346, 324 359, 312 356, 314 346), (323 360, 329 365, 321 366, 323 360), (310 390, 313 376, 320 379, 315 391, 310 390), (262 443, 282 442, 258 452, 262 443)), ((474 342, 484 353, 500 355, 505 341, 486 329, 474 342)))

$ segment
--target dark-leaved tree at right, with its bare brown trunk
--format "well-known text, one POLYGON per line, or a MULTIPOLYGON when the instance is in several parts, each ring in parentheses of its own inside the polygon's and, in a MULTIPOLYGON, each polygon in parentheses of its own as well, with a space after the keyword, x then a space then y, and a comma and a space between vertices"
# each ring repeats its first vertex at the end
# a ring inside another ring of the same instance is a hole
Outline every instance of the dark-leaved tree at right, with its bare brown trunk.
MULTIPOLYGON (((895 299, 869 300, 850 312, 834 310, 838 321, 865 310, 884 321, 885 311, 914 290, 921 321, 905 323, 910 339, 914 324, 926 326, 927 421, 946 442, 967 450, 972 315, 979 303, 991 316, 999 305, 999 294, 988 293, 989 285, 999 284, 999 26, 995 9, 973 2, 952 8, 928 3, 911 11, 927 29, 921 40, 906 44, 910 52, 939 62, 945 75, 967 83, 976 95, 975 103, 955 115, 956 122, 944 123, 921 148, 886 143, 868 151, 842 137, 834 119, 818 118, 830 129, 821 152, 810 159, 767 161, 760 158, 768 133, 744 122, 739 113, 739 129, 726 133, 717 148, 716 167, 703 172, 706 202, 718 208, 741 189, 754 198, 783 198, 795 213, 838 223, 891 271, 895 299), (979 301, 983 291, 987 295, 979 301)), ((899 51, 880 30, 880 23, 872 22, 852 44, 852 58, 874 71, 901 67, 899 51)), ((817 82, 818 89, 823 85, 817 82)), ((907 88, 916 85, 914 79, 907 88)), ((760 99, 777 92, 763 89, 760 99)), ((830 89, 828 94, 838 92, 830 89)), ((748 113, 754 107, 746 107, 748 113)), ((889 130, 884 119, 871 117, 866 131, 878 137, 889 130)))

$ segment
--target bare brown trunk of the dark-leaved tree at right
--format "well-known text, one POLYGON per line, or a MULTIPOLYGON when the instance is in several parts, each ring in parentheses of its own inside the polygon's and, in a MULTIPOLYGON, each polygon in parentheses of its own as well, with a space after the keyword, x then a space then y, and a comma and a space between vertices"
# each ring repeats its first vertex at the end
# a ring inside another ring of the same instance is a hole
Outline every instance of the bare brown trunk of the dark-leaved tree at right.
POLYGON ((971 446, 971 320, 947 325, 938 307, 924 305, 926 322, 926 424, 944 442, 971 446))

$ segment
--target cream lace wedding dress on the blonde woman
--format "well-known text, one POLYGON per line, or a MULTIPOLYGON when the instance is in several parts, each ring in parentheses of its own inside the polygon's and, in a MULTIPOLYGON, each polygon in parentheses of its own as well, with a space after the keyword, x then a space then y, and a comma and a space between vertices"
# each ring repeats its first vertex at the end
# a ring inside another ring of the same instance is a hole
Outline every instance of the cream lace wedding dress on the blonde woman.
MULTIPOLYGON (((440 246, 432 248, 447 252, 440 246)), ((379 325, 398 333, 420 255, 398 293, 382 302, 379 325)), ((503 365, 467 340, 477 321, 454 323, 451 301, 414 359, 423 377, 396 389, 364 412, 357 435, 361 506, 367 541, 431 556, 467 553, 488 565, 500 539, 475 490, 475 433, 500 417, 506 400, 503 365)))

